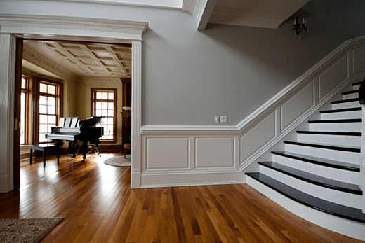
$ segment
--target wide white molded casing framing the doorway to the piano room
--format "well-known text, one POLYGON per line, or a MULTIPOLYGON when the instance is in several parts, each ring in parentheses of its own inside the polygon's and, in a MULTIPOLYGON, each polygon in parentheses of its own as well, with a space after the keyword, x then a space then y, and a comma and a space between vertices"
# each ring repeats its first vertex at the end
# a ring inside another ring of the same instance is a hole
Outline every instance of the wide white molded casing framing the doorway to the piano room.
POLYGON ((0 119, 0 133, 6 138, 0 152, 0 193, 13 190, 13 99, 15 80, 15 37, 24 39, 47 39, 67 41, 91 41, 103 43, 132 44, 132 94, 133 139, 132 139, 132 179, 131 187, 140 187, 140 120, 142 85, 142 34, 148 29, 147 22, 81 18, 53 15, 6 14, 0 13, 0 102, 4 104, 7 116, 0 119), (6 178, 6 180, 4 179, 6 178), (4 179, 4 180, 3 180, 4 179), (4 184, 3 184, 4 181, 4 184))

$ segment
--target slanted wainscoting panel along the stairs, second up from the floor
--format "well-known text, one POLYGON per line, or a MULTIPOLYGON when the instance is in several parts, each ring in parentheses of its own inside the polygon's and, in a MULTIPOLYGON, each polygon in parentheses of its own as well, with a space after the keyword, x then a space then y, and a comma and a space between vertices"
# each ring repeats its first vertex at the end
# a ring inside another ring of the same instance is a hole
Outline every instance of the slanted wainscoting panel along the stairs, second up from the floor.
POLYGON ((314 81, 281 105, 281 131, 312 106, 314 106, 314 81))

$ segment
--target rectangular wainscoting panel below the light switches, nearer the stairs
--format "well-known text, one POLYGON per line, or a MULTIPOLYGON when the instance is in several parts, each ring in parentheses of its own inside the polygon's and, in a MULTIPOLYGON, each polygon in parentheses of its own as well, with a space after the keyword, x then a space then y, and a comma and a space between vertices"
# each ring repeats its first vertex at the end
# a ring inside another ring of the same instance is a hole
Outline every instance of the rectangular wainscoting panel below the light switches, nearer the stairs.
POLYGON ((195 168, 234 167, 234 137, 195 138, 195 168))

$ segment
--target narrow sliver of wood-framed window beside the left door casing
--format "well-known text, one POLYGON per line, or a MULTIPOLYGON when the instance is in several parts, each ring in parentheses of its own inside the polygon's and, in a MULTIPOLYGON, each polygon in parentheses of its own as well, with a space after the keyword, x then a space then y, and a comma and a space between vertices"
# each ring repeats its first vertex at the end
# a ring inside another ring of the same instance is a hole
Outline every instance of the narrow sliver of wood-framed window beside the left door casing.
POLYGON ((30 78, 22 76, 21 94, 20 94, 20 144, 29 144, 29 126, 28 126, 28 109, 29 109, 29 82, 30 78))

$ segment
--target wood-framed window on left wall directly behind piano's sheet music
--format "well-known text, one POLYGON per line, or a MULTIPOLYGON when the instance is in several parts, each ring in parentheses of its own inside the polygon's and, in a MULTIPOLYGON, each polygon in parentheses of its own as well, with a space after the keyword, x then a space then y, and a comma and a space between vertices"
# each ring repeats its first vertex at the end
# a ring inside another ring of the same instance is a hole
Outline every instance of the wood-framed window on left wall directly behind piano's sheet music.
POLYGON ((60 118, 61 83, 39 81, 39 143, 47 142, 45 134, 58 125, 60 118))

